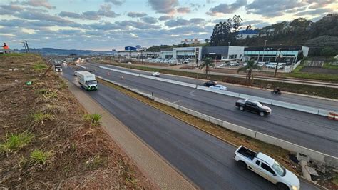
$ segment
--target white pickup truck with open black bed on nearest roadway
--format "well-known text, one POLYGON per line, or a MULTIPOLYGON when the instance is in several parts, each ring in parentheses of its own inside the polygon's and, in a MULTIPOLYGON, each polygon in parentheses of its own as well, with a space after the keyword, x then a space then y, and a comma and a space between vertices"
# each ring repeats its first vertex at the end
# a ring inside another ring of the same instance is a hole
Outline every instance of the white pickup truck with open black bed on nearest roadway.
POLYGON ((240 146, 235 151, 234 159, 242 169, 250 169, 277 186, 278 189, 298 190, 299 179, 291 171, 281 166, 266 154, 255 152, 240 146))

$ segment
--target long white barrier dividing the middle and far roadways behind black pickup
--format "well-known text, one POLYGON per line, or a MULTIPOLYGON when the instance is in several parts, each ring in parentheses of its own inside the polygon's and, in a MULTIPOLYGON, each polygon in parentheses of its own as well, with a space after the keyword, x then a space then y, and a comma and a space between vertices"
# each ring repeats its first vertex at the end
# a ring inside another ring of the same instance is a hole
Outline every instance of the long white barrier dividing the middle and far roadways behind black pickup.
MULTIPOLYGON (((83 66, 81 66, 81 67, 83 67, 83 66)), ((270 105, 273 105, 273 106, 280 106, 280 107, 283 107, 283 108, 286 108, 286 109, 293 109, 293 110, 302 111, 302 112, 309 113, 309 114, 316 114, 316 115, 319 115, 319 116, 328 116, 329 112, 334 112, 334 111, 329 111, 329 110, 326 110, 326 109, 314 108, 314 107, 311 107, 311 106, 302 106, 302 105, 299 105, 299 104, 292 104, 292 103, 288 103, 288 102, 285 102, 285 101, 276 101, 276 100, 272 100, 272 99, 265 99, 265 98, 261 98, 261 97, 257 97, 257 96, 250 96, 250 95, 247 95, 247 94, 240 94, 240 93, 235 93, 235 92, 231 92, 231 91, 221 91, 221 90, 217 90, 217 89, 210 89, 210 88, 205 87, 205 86, 190 84, 190 83, 181 82, 181 81, 175 81, 175 80, 171 80, 171 79, 161 79, 161 78, 155 78, 153 76, 148 76, 148 75, 144 75, 144 74, 135 74, 135 73, 128 72, 128 71, 112 69, 112 68, 109 68, 109 67, 106 67, 106 66, 98 66, 98 67, 100 67, 101 69, 116 71, 116 72, 120 72, 120 73, 123 73, 123 74, 140 76, 140 77, 143 77, 143 78, 146 78, 146 79, 164 81, 164 82, 168 82, 168 83, 171 83, 171 84, 178 84, 180 86, 187 86, 187 87, 194 88, 194 89, 200 89, 200 90, 203 90, 203 91, 212 91, 212 92, 215 92, 217 94, 223 94, 223 95, 226 95, 226 96, 232 96, 232 97, 237 97, 237 98, 241 98, 241 99, 252 99, 252 100, 255 100, 255 101, 260 101, 260 102, 265 103, 265 104, 270 104, 270 105)))

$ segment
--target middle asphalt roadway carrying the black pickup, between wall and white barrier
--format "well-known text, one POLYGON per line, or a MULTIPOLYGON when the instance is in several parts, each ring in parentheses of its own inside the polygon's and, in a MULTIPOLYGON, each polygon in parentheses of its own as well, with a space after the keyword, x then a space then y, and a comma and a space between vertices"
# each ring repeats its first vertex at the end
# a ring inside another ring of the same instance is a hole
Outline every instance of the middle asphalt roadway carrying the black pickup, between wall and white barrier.
POLYGON ((180 106, 185 106, 217 119, 260 131, 309 149, 338 156, 337 121, 328 120, 323 116, 270 105, 272 114, 261 117, 250 112, 239 111, 235 107, 237 98, 234 97, 114 71, 109 71, 110 75, 108 75, 106 69, 87 66, 98 76, 118 81, 149 94, 153 92, 155 96, 180 106), (121 80, 121 75, 124 76, 123 80, 121 80))

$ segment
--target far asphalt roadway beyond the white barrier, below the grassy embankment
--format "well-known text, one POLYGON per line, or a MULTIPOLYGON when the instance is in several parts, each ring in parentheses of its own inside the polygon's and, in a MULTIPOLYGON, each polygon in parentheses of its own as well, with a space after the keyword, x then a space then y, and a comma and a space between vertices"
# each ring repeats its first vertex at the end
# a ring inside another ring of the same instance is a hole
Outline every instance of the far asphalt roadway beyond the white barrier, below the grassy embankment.
MULTIPOLYGON (((92 66, 108 66, 113 69, 120 69, 123 71, 132 71, 134 73, 138 74, 151 74, 151 72, 148 71, 139 71, 135 69, 125 69, 123 67, 119 66, 109 66, 105 64, 94 64, 91 63, 92 66)), ((164 68, 165 69, 165 68, 164 68)), ((183 81, 183 82, 188 82, 190 84, 198 84, 198 85, 203 85, 205 80, 200 80, 200 79, 193 79, 193 78, 188 78, 188 77, 183 77, 183 76, 173 76, 173 75, 168 75, 168 74, 161 74, 161 78, 163 79, 172 79, 175 81, 183 81)), ((220 83, 221 84, 221 83, 220 83)), ((314 99, 312 97, 307 97, 307 96, 297 96, 294 94, 282 94, 282 96, 276 96, 270 93, 270 91, 266 90, 261 90, 261 89, 251 89, 243 86, 234 86, 230 84, 224 84, 227 86, 227 91, 233 91, 236 93, 241 93, 241 94, 247 94, 250 96, 258 96, 262 97, 265 99, 273 99, 277 101, 285 101, 293 104, 299 104, 299 105, 304 105, 304 106, 312 106, 320 109, 327 109, 330 111, 338 111, 338 101, 329 101, 329 100, 324 100, 324 99, 314 99)), ((338 97, 338 95, 337 95, 338 97)))

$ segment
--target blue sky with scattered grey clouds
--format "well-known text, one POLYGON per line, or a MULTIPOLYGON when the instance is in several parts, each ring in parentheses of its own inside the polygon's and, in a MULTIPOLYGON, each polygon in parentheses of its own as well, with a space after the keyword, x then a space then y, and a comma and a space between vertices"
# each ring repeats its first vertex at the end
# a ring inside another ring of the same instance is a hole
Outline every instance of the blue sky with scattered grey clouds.
POLYGON ((337 0, 25 0, 0 1, 0 42, 33 48, 123 49, 209 39, 219 21, 237 14, 261 28, 298 17, 317 21, 337 0))

